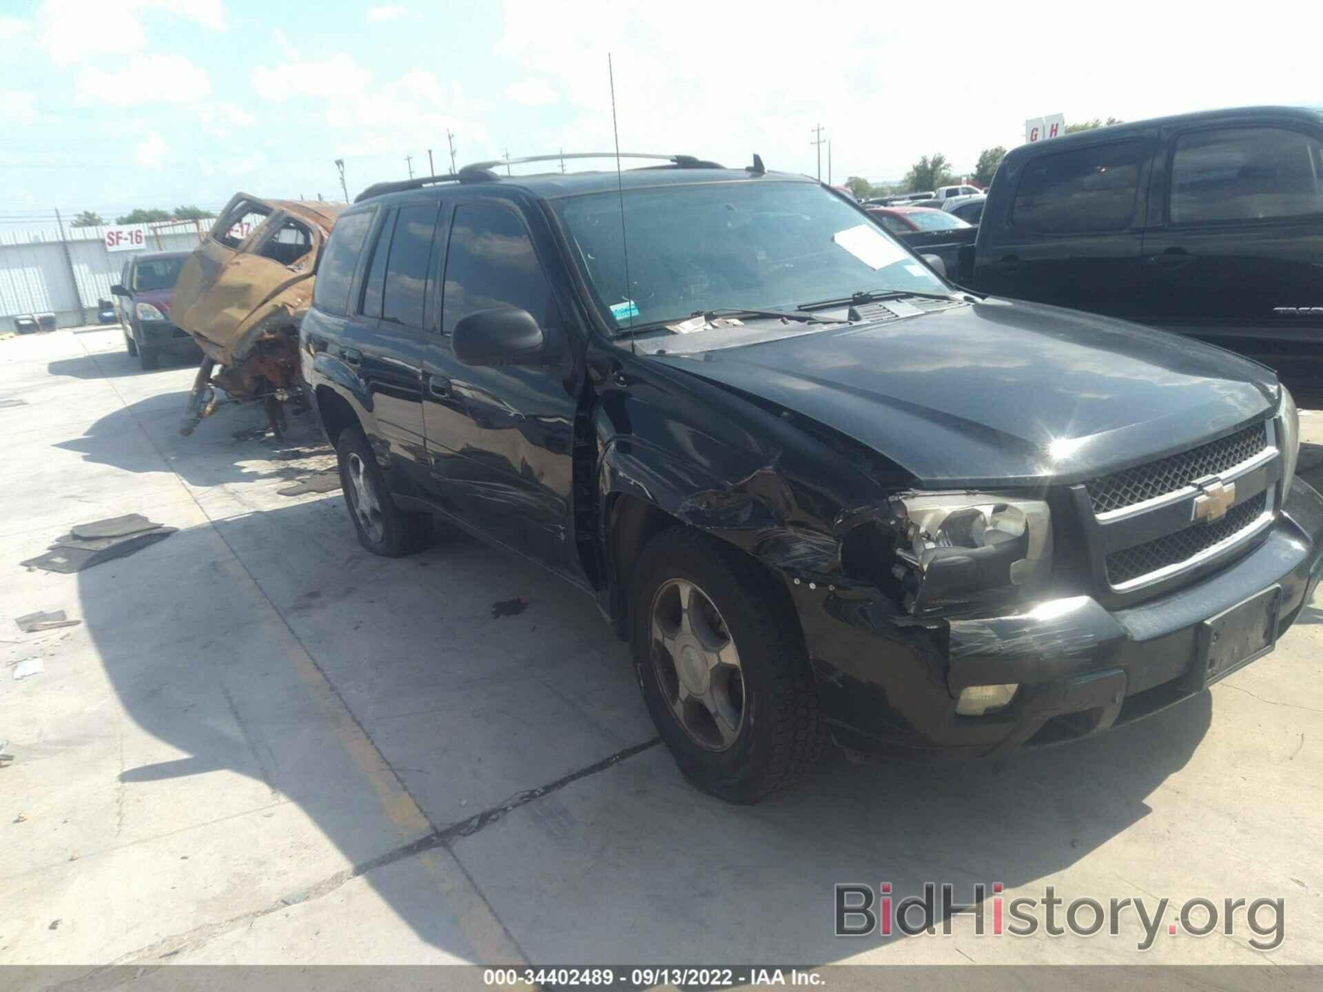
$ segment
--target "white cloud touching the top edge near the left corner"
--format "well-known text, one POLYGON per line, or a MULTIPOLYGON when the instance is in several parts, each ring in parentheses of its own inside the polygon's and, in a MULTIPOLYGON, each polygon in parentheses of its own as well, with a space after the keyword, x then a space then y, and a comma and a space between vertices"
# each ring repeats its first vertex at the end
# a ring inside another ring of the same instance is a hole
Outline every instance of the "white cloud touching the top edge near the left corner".
POLYGON ((221 0, 44 0, 37 11, 41 45, 57 66, 105 61, 147 45, 144 12, 165 12, 208 30, 225 30, 221 0))

